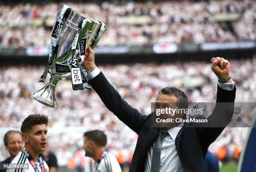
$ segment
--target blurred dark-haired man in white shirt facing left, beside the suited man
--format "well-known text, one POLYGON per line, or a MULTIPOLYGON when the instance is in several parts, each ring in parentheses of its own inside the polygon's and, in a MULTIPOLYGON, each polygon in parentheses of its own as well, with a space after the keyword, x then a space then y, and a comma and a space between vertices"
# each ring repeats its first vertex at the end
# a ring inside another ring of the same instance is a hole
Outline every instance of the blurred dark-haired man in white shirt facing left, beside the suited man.
POLYGON ((114 155, 105 151, 107 136, 100 130, 84 133, 85 155, 94 159, 93 172, 121 172, 114 155))

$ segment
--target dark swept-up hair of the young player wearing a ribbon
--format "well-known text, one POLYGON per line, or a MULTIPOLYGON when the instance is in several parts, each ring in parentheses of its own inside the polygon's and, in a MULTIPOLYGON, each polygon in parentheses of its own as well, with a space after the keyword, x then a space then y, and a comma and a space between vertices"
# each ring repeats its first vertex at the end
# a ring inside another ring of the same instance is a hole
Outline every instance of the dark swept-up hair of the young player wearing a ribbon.
POLYGON ((48 124, 48 116, 40 114, 32 114, 26 117, 21 124, 20 131, 21 133, 26 133, 32 129, 35 125, 48 124))

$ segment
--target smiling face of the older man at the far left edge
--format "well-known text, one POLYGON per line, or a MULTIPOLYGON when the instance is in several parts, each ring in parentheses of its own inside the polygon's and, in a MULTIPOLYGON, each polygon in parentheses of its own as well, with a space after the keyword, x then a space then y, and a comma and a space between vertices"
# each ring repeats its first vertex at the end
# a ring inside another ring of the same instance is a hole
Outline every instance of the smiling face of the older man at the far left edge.
POLYGON ((10 133, 8 135, 8 144, 6 149, 11 157, 15 157, 22 149, 22 137, 19 133, 10 133))

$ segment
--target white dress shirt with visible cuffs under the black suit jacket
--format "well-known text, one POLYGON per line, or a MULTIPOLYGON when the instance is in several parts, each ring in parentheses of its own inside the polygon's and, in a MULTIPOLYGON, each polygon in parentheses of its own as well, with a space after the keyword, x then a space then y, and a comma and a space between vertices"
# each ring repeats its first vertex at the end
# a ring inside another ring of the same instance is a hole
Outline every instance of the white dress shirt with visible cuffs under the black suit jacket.
MULTIPOLYGON (((87 81, 90 81, 92 78, 97 76, 100 73, 100 70, 96 67, 92 73, 85 76, 87 81)), ((231 79, 230 83, 220 83, 218 82, 218 86, 220 88, 231 91, 234 89, 235 82, 231 79)), ((177 154, 177 150, 175 147, 175 139, 179 130, 182 128, 184 123, 180 124, 177 127, 168 129, 168 136, 163 139, 162 149, 161 149, 161 157, 160 157, 160 172, 184 172, 182 164, 179 160, 179 156, 177 154)), ((151 145, 148 150, 148 155, 145 162, 145 172, 151 171, 151 160, 153 154, 154 144, 151 145)))

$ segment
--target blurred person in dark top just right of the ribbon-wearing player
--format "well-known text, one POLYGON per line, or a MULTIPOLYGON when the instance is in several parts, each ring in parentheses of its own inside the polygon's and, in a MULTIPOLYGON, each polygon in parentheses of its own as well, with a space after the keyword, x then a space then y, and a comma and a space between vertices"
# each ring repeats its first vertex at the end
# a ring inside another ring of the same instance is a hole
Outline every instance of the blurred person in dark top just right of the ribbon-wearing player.
POLYGON ((51 152, 49 145, 46 145, 46 151, 42 154, 44 161, 49 167, 49 172, 57 172, 58 162, 54 152, 51 152))

